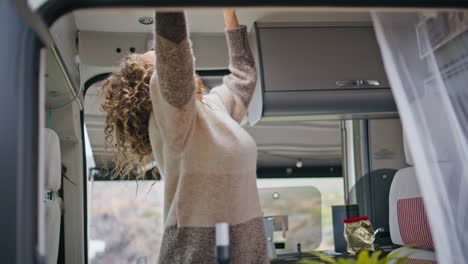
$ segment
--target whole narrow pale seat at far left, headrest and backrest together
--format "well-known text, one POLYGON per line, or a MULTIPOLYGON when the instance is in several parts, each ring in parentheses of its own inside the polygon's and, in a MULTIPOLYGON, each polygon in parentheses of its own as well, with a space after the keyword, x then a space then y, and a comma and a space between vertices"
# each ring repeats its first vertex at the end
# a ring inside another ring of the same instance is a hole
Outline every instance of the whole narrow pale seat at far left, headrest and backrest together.
POLYGON ((45 129, 45 237, 46 264, 56 264, 60 241, 61 199, 58 191, 62 180, 60 139, 52 129, 45 129))

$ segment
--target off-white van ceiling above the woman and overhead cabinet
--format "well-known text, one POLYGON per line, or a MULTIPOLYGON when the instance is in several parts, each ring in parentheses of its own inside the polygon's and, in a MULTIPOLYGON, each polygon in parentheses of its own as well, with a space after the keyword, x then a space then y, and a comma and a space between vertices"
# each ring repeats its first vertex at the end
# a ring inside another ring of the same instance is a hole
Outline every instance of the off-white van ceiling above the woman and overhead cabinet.
MULTIPOLYGON (((254 22, 328 22, 328 21, 371 21, 369 12, 317 10, 305 8, 239 8, 238 17, 249 28, 254 22)), ((335 9, 336 10, 336 9, 335 9)), ((152 17, 151 8, 146 9, 83 9, 74 12, 76 26, 81 31, 105 32, 151 32, 152 25, 138 22, 140 17, 152 17)), ((224 32, 221 9, 190 9, 187 19, 191 32, 224 32)))

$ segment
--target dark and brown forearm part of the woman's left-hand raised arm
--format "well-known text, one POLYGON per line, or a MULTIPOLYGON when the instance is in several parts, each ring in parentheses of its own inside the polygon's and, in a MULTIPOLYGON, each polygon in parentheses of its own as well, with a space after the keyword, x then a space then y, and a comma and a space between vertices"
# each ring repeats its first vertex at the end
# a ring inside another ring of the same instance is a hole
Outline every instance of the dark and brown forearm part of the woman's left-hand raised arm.
POLYGON ((164 99, 177 108, 195 100, 193 54, 183 12, 156 12, 156 72, 164 99))

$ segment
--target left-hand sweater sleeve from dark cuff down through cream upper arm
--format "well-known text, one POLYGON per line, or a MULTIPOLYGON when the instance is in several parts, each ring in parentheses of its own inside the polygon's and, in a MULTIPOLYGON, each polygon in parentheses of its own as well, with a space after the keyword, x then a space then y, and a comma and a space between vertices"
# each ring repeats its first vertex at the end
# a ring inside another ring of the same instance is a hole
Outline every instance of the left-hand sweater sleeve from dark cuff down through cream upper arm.
POLYGON ((194 58, 183 12, 156 12, 153 114, 167 144, 184 147, 195 116, 194 58))

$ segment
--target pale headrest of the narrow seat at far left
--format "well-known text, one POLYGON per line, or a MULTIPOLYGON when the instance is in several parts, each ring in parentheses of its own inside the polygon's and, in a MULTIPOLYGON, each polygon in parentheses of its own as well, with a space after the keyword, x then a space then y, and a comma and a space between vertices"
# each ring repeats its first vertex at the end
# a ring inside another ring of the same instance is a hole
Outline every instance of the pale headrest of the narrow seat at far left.
POLYGON ((58 191, 62 179, 62 160, 60 156, 60 139, 52 129, 46 128, 45 135, 45 190, 58 191))

